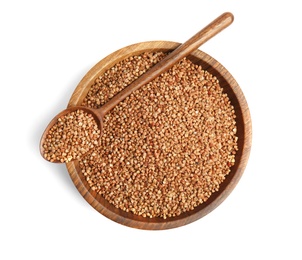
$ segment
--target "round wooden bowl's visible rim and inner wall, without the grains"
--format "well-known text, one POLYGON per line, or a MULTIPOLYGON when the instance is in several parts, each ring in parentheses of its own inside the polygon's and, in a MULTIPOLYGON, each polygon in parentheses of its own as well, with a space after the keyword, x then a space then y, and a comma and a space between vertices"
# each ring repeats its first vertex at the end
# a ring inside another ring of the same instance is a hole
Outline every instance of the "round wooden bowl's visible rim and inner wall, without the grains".
MULTIPOLYGON (((81 105, 95 79, 119 61, 143 52, 172 51, 178 46, 179 43, 175 42, 151 41, 137 43, 115 51, 98 62, 84 76, 71 96, 68 106, 81 105)), ((231 168, 231 172, 221 184, 219 191, 213 193, 206 202, 200 204, 194 210, 182 213, 177 217, 163 219, 145 218, 117 209, 90 188, 81 173, 78 161, 67 163, 70 177, 85 200, 98 212, 113 221, 129 227, 149 230, 169 229, 189 224, 205 216, 222 203, 235 188, 243 174, 251 149, 251 118, 245 97, 232 75, 211 56, 200 50, 196 50, 187 58, 195 64, 200 64, 204 70, 209 71, 218 78, 220 86, 224 89, 225 93, 228 94, 231 103, 235 108, 237 117, 237 136, 239 138, 239 150, 236 154, 235 165, 231 168)))

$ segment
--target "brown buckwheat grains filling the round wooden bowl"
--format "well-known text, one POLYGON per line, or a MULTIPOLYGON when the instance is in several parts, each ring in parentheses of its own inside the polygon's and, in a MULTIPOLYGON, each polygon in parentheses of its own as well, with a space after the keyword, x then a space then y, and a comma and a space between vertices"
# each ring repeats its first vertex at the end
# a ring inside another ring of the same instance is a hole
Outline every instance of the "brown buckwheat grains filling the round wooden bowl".
MULTIPOLYGON (((98 108, 166 54, 127 58, 96 79, 98 108)), ((91 189, 144 217, 173 217, 205 202, 235 163, 234 108, 216 77, 188 59, 105 116, 100 145, 80 160, 91 189)))

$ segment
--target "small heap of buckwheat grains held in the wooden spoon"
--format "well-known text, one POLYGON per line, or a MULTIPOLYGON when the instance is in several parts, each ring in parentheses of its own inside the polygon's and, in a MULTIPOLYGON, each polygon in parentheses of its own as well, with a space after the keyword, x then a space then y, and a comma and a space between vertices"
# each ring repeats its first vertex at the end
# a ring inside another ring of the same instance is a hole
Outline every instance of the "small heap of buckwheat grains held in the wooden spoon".
POLYGON ((76 110, 58 118, 43 142, 44 158, 50 162, 80 159, 98 145, 100 130, 91 114, 76 110))

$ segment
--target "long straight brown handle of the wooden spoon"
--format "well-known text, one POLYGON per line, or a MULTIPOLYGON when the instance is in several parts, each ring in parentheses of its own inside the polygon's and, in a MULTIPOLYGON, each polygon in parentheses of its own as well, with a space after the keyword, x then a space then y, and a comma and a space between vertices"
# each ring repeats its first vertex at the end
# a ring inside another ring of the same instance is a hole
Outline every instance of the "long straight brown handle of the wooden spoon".
POLYGON ((223 29, 228 27, 234 20, 234 16, 231 13, 223 13, 212 21, 209 25, 203 28, 201 31, 196 33, 193 37, 181 44, 173 52, 167 55, 160 62, 155 64, 145 74, 141 75, 138 79, 132 82, 129 86, 124 88, 121 92, 116 94, 112 99, 105 103, 100 110, 105 115, 118 103, 128 97, 132 92, 139 89, 143 85, 147 84, 163 72, 170 69, 178 61, 189 55, 194 50, 198 49, 203 43, 214 37, 216 34, 221 32, 223 29))

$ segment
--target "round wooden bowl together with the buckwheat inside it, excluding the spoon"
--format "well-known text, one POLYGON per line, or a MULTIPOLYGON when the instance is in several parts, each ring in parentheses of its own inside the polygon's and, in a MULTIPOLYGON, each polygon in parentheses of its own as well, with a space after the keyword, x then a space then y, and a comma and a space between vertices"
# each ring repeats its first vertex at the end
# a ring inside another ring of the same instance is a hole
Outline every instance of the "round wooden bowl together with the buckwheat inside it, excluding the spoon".
MULTIPOLYGON (((109 55, 84 77, 70 105, 99 108, 176 46, 149 42, 109 55)), ((67 167, 96 210, 136 228, 178 227, 209 213, 237 184, 250 150, 244 96, 201 51, 135 91, 104 121, 100 145, 67 167)))

